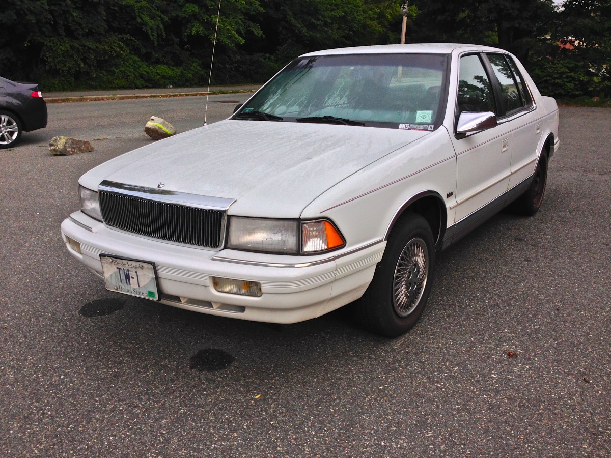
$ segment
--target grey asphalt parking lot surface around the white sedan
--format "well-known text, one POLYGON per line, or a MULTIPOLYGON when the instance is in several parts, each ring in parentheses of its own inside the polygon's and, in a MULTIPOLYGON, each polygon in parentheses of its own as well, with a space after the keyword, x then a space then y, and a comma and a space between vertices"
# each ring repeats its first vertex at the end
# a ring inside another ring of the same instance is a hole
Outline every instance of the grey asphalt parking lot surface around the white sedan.
MULTIPOLYGON (((246 98, 211 97, 208 122, 246 98)), ((388 340, 349 306, 269 325, 118 296, 68 255, 78 177, 204 105, 49 104, 0 150, 0 456, 611 454, 611 110, 560 108, 540 213, 439 255, 420 323, 388 340), (95 151, 51 156, 56 135, 95 151)))

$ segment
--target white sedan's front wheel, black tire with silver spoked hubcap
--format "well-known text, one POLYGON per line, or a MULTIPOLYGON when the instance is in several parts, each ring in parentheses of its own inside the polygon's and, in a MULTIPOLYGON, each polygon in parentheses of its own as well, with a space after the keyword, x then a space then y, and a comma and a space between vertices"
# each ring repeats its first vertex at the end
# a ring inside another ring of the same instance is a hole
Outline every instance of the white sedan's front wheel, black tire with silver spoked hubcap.
POLYGON ((431 291, 434 265, 431 227, 418 214, 405 215, 390 233, 373 280, 357 301, 362 324, 387 337, 414 327, 431 291))

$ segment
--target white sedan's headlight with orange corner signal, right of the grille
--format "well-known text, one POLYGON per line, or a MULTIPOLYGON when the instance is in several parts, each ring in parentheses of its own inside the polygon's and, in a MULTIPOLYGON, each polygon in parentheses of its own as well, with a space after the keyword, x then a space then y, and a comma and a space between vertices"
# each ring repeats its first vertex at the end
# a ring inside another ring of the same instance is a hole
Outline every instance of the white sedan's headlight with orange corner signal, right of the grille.
POLYGON ((327 220, 245 218, 232 216, 227 247, 268 253, 321 253, 343 247, 346 242, 327 220))

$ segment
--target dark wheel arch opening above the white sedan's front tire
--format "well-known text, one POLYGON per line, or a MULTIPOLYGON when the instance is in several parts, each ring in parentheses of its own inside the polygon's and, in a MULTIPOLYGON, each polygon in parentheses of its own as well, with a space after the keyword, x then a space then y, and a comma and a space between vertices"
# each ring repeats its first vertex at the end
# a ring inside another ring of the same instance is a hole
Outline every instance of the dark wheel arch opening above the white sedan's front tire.
POLYGON ((401 220, 409 213, 416 213, 422 216, 433 232, 435 241, 435 249, 441 249, 445 228, 447 227, 447 211, 445 202, 441 195, 436 191, 423 191, 410 197, 401 205, 401 208, 395 212, 392 221, 386 228, 384 240, 387 240, 393 228, 400 224, 401 220))

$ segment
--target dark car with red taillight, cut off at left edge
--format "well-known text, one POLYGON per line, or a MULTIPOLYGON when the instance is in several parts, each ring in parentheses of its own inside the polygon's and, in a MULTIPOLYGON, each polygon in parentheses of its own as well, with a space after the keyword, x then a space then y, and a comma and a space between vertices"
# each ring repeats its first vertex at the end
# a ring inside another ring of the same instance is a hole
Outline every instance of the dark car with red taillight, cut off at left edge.
POLYGON ((46 103, 33 82, 0 77, 0 149, 16 145, 22 132, 46 127, 46 103))

